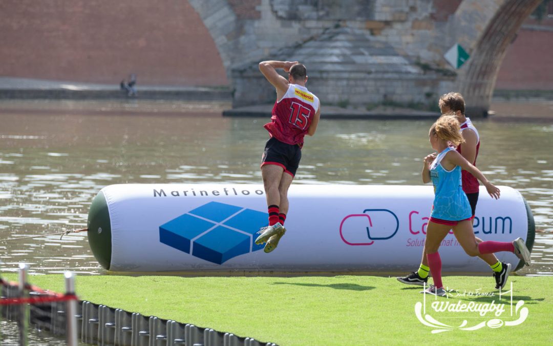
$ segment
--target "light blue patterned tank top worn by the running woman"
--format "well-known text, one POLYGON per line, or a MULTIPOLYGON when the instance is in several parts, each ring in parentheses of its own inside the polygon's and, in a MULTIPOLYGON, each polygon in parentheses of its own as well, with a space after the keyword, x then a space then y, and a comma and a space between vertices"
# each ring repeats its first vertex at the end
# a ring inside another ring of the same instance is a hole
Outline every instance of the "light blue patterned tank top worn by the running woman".
POLYGON ((435 219, 460 221, 472 216, 471 205, 463 192, 461 166, 446 171, 441 165, 446 154, 455 149, 447 147, 430 165, 430 178, 434 185, 434 206, 430 216, 435 219))

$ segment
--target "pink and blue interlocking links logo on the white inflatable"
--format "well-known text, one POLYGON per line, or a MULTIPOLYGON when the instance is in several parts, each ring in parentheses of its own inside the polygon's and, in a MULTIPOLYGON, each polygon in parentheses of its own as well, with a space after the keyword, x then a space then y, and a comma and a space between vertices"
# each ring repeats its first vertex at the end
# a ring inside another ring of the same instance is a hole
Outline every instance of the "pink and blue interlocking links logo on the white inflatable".
POLYGON ((398 229, 399 219, 392 211, 365 209, 363 214, 351 214, 343 218, 340 237, 347 245, 372 245, 375 240, 392 238, 398 229))

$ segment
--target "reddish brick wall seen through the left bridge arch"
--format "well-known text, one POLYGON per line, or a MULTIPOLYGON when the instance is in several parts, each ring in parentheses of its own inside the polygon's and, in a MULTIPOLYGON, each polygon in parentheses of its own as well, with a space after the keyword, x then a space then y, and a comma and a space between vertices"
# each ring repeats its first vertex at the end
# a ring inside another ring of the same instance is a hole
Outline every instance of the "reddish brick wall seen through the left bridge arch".
POLYGON ((3 0, 0 76, 118 84, 227 85, 186 0, 3 0))

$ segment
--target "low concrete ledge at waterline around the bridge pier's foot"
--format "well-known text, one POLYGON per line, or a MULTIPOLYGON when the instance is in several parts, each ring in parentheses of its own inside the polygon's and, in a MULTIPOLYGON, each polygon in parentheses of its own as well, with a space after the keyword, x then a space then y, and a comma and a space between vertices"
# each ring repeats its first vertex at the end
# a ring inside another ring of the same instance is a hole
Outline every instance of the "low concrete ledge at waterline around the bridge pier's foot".
MULTIPOLYGON (((271 117, 273 105, 238 107, 223 111, 227 117, 271 117)), ((379 106, 373 110, 347 109, 336 106, 322 106, 321 118, 325 119, 436 119, 439 112, 428 112, 399 107, 379 106)))

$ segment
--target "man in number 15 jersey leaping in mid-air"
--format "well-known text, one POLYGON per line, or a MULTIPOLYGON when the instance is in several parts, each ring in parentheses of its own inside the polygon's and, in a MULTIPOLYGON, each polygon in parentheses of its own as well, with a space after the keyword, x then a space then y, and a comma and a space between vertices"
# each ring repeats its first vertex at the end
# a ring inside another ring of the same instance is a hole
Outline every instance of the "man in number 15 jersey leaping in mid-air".
POLYGON ((298 61, 262 61, 259 70, 276 89, 271 122, 264 125, 270 138, 261 159, 269 225, 255 239, 258 245, 267 242, 263 250, 271 252, 286 233, 288 188, 300 164, 304 136, 317 130, 321 107, 319 98, 305 87, 307 70, 298 61), (279 68, 288 73, 288 79, 276 72, 279 68))

